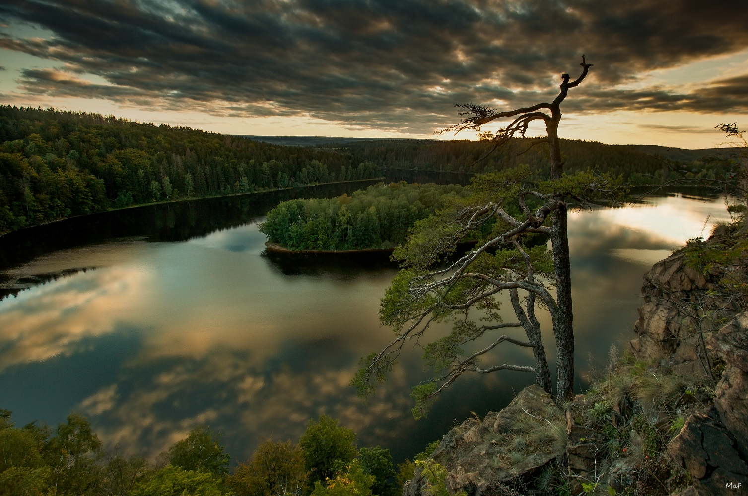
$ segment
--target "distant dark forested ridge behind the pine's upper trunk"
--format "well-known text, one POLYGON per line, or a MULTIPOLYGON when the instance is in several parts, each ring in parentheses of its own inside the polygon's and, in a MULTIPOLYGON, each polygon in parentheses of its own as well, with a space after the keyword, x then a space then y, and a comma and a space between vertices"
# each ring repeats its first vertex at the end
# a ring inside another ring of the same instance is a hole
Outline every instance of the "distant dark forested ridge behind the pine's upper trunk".
MULTIPOLYGON (((438 140, 371 140, 353 143, 319 145, 319 149, 348 152, 354 160, 372 161, 380 167, 447 172, 481 173, 530 164, 536 170, 550 174, 548 145, 530 148, 529 139, 514 139, 497 149, 485 160, 483 157, 493 145, 488 141, 438 141, 438 140), (527 152, 526 152, 527 150, 527 152)), ((561 140, 565 170, 599 170, 616 176, 622 174, 634 184, 659 182, 665 174, 674 178, 678 170, 687 170, 691 176, 715 179, 732 168, 732 158, 717 154, 717 150, 668 149, 664 146, 607 145, 595 141, 561 140), (678 151, 672 155, 672 151, 678 151), (668 158, 681 158, 669 162, 668 158), (683 158, 690 158, 683 160, 683 158), (695 160, 694 158, 698 158, 695 160)))

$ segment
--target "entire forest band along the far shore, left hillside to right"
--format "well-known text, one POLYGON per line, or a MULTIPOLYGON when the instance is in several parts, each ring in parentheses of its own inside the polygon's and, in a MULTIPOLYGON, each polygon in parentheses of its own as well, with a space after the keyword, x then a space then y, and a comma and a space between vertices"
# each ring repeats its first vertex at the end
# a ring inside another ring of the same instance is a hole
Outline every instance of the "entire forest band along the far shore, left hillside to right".
MULTIPOLYGON (((382 170, 481 173, 529 164, 548 175, 548 147, 515 139, 370 140, 283 146, 191 128, 53 108, 0 106, 0 233, 162 200, 252 193, 379 177, 382 170)), ((562 140, 568 173, 598 170, 632 185, 717 179, 734 159, 672 161, 635 146, 562 140)))

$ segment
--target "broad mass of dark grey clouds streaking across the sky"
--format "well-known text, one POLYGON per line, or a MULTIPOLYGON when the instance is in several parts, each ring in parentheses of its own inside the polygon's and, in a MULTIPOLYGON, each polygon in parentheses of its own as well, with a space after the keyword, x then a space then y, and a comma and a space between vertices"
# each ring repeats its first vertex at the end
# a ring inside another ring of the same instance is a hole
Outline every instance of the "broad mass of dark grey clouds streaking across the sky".
POLYGON ((567 110, 748 109, 748 76, 610 90, 744 49, 744 1, 50 0, 7 1, 0 16, 54 34, 0 38, 64 63, 22 73, 23 89, 49 96, 421 132, 453 121, 453 102, 550 99, 586 53, 595 67, 567 110))

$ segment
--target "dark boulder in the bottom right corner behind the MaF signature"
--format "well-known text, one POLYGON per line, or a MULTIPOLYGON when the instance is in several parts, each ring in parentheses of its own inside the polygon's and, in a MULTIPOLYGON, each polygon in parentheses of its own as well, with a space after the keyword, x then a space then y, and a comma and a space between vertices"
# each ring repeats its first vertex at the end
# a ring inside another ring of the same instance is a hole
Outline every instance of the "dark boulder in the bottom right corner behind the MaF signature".
POLYGON ((714 408, 691 415, 667 445, 667 454, 691 474, 699 496, 734 495, 729 483, 748 483, 748 465, 714 408))

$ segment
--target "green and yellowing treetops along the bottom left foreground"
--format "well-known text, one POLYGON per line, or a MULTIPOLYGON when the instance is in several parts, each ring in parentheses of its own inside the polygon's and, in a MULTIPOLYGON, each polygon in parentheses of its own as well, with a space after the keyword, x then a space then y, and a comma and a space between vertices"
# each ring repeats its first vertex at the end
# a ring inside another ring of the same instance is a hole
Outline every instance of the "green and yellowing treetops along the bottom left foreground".
POLYGON ((233 469, 221 433, 207 425, 149 462, 104 450, 80 414, 54 428, 16 427, 10 416, 0 409, 3 496, 398 496, 415 468, 410 460, 393 465, 389 449, 359 449, 356 433, 328 415, 311 419, 298 444, 268 439, 233 469))

